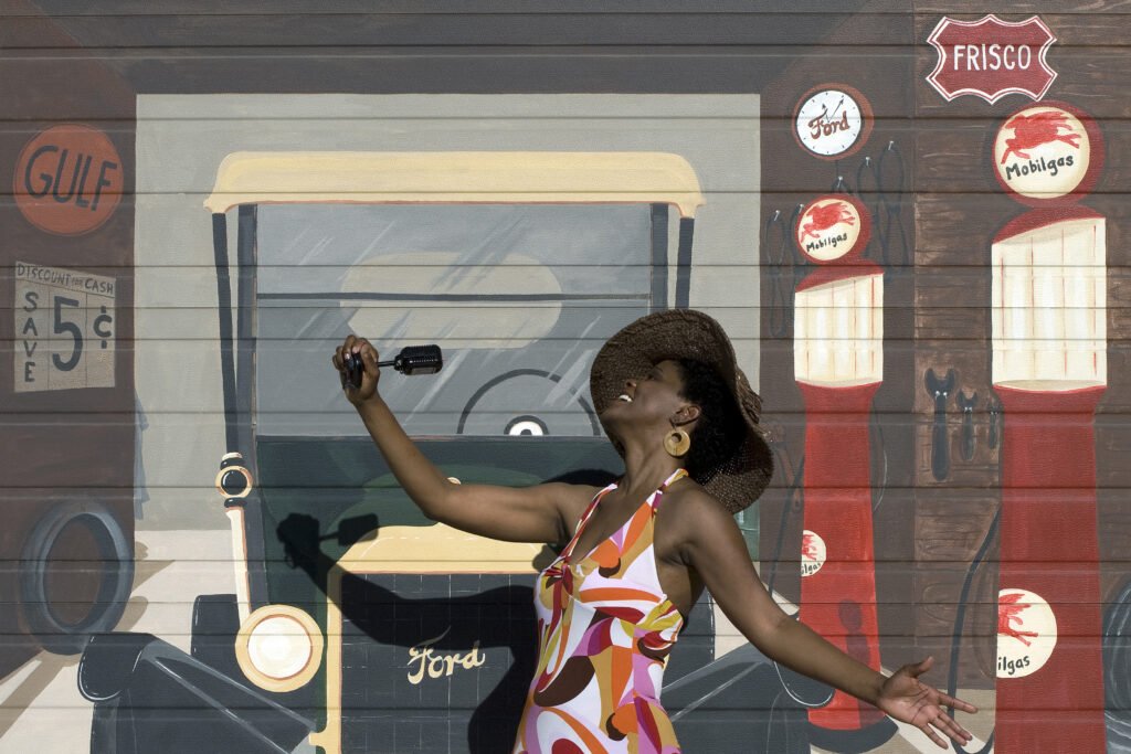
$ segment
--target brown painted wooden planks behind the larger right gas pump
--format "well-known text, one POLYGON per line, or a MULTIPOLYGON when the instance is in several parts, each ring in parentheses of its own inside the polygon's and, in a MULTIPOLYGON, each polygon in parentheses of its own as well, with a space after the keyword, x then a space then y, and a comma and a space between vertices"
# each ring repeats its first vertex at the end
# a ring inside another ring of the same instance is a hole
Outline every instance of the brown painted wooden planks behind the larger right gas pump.
MULTIPOLYGON (((924 40, 941 16, 959 10, 947 3, 922 3, 917 8, 915 35, 924 40)), ((974 11, 977 12, 977 11, 974 11)), ((1102 595, 1116 599, 1125 587, 1128 552, 1128 509, 1120 502, 1126 487, 1125 428, 1121 417, 1128 395, 1125 341, 1128 310, 1121 294, 1128 258, 1121 243, 1125 234, 1122 211, 1123 177, 1126 174, 1128 107, 1119 96, 1107 94, 1129 60, 1119 45, 1112 46, 1107 33, 1125 28, 1126 19, 1115 8, 1089 8, 1077 12, 1062 5, 1033 3, 1024 11, 1039 15, 1055 29, 1057 41, 1050 53, 1056 79, 1048 97, 1074 104, 1100 124, 1106 158, 1099 182, 1081 200, 1099 211, 1107 223, 1107 390, 1096 416, 1096 469, 1099 500, 1098 528, 1102 595), (1111 81, 1112 84, 1105 84, 1111 81)), ((957 16, 976 20, 973 16, 957 16)), ((1024 20, 1021 15, 1010 20, 1024 20)), ((927 369, 936 372, 952 366, 958 378, 957 391, 992 396, 990 384, 990 278, 985 275, 990 240, 1007 222, 1027 208, 1011 200, 998 187, 988 170, 987 133, 994 131, 1022 103, 1002 99, 993 105, 975 97, 959 97, 947 103, 925 81, 935 62, 932 49, 920 46, 916 55, 916 166, 915 227, 916 285, 914 374, 922 379, 927 369)), ((955 563, 966 563, 983 544, 998 509, 1000 445, 990 447, 990 415, 982 404, 975 414, 977 452, 966 463, 955 466, 952 477, 940 484, 931 478, 930 426, 931 397, 915 392, 915 414, 923 417, 915 436, 916 539, 918 558, 932 565, 921 566, 916 593, 924 601, 946 604, 959 587, 955 563), (986 433, 986 434, 983 434, 986 433)), ((957 440, 957 433, 952 435, 957 440)), ((958 447, 952 444, 952 458, 958 447)), ((996 546, 996 545, 993 545, 996 546)), ((976 601, 995 601, 996 578, 993 566, 978 574, 976 601)), ((979 671, 993 676, 993 625, 995 612, 985 608, 972 615, 975 655, 979 671), (977 627, 981 626, 981 627, 977 627)), ((950 610, 921 613, 916 635, 946 634, 952 626, 950 610)))

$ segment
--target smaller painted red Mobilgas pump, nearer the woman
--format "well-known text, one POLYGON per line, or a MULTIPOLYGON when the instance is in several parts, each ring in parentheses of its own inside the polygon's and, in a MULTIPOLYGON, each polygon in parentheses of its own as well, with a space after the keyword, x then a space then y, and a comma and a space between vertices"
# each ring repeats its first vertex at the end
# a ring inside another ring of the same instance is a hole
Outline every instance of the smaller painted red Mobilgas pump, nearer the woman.
MULTIPOLYGON (((869 415, 883 381, 883 271, 860 259, 870 225, 845 194, 802 210, 794 237, 821 267, 794 296, 794 375, 805 400, 801 619, 879 670, 869 415)), ((809 719, 851 731, 883 713, 838 691, 809 719)))

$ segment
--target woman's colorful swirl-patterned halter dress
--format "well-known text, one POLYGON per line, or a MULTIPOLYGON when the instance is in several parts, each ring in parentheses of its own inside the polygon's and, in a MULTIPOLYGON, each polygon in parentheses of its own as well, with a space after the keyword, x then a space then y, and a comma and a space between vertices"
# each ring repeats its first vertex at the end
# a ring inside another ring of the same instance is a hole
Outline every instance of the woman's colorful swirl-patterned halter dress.
POLYGON ((538 668, 515 754, 677 754, 659 703, 664 660, 683 616, 659 587, 653 531, 664 489, 585 557, 573 548, 611 484, 593 499, 573 539, 538 578, 538 668))

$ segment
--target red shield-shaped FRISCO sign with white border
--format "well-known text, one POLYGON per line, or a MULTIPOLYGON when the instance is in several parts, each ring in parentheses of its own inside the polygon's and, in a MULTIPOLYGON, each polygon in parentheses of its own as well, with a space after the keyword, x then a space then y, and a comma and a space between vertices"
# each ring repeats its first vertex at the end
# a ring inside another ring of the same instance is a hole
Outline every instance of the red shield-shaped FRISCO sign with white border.
POLYGON ((939 61, 926 80, 948 102, 964 94, 990 104, 1008 94, 1041 99, 1056 78, 1045 61, 1055 41, 1037 16, 1018 23, 993 15, 977 21, 943 17, 927 37, 939 61))

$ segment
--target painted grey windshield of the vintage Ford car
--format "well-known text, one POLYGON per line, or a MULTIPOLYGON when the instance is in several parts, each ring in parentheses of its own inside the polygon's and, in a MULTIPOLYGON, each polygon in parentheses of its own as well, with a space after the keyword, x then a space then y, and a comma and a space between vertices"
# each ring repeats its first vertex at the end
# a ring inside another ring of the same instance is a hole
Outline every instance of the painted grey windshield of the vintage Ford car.
POLYGON ((382 373, 412 435, 599 435, 589 365, 653 305, 649 205, 256 211, 260 435, 364 433, 329 365, 351 332, 443 349, 439 374, 382 373))

